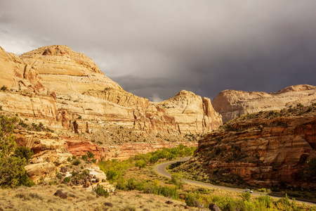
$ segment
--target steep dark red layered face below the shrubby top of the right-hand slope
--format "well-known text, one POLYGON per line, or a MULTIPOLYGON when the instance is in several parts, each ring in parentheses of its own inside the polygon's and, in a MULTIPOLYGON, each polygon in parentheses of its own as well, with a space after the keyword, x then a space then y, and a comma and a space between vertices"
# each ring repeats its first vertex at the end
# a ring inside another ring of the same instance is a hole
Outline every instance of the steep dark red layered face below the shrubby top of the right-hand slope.
POLYGON ((199 141, 196 153, 207 172, 239 174, 248 184, 316 188, 303 181, 307 161, 316 158, 316 118, 277 117, 235 122, 231 131, 199 141))

